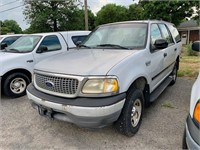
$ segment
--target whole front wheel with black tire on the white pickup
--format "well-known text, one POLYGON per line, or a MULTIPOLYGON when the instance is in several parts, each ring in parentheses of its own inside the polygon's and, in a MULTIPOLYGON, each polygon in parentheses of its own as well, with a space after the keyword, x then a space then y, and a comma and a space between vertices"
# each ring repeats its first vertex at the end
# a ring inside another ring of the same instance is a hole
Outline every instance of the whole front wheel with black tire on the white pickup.
POLYGON ((23 73, 10 74, 3 83, 3 92, 13 98, 23 96, 29 83, 30 79, 23 73))

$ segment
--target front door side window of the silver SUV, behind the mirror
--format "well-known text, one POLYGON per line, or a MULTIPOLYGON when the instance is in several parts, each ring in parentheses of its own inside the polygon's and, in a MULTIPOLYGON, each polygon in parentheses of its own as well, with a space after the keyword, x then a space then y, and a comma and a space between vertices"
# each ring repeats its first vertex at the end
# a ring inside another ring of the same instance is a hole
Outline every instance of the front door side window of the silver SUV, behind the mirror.
POLYGON ((156 49, 154 43, 156 40, 162 39, 160 29, 157 24, 151 25, 151 49, 156 49))

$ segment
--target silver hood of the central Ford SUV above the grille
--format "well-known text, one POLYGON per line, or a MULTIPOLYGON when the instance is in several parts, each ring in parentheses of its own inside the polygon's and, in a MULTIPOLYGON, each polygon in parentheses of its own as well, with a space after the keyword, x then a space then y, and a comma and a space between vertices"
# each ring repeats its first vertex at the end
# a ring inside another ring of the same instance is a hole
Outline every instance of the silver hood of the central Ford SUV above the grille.
POLYGON ((106 75, 108 71, 136 50, 70 50, 39 62, 35 69, 70 75, 106 75))

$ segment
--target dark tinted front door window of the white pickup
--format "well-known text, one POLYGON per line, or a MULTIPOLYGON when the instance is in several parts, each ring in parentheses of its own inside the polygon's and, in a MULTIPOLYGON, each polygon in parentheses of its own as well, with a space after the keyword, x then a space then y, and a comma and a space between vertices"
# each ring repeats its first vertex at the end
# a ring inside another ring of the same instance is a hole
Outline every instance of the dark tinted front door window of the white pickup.
POLYGON ((45 37, 40 45, 46 46, 48 48, 48 51, 54 51, 54 50, 61 49, 60 41, 59 41, 58 37, 55 35, 45 37))

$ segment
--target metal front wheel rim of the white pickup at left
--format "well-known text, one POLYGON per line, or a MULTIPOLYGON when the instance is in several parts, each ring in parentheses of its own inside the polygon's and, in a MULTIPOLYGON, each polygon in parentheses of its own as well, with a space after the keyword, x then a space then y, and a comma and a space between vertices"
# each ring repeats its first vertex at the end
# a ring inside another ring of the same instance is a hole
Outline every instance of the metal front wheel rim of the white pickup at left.
POLYGON ((15 78, 10 82, 10 90, 15 94, 20 94, 26 89, 26 81, 23 78, 15 78))

